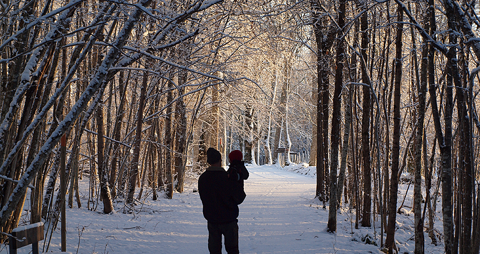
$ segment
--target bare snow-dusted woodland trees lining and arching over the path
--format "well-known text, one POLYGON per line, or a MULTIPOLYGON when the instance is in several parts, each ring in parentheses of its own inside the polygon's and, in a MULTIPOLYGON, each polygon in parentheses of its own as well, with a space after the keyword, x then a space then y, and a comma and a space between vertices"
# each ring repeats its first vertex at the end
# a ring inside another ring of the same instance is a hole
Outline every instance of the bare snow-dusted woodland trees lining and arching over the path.
POLYGON ((380 220, 390 253, 410 176, 415 253, 424 232, 445 253, 478 253, 479 12, 474 0, 1 0, 2 241, 27 188, 29 223, 58 220, 61 171, 69 208, 132 212, 144 192, 182 192, 216 147, 316 165, 328 230, 348 203, 357 228, 380 220))

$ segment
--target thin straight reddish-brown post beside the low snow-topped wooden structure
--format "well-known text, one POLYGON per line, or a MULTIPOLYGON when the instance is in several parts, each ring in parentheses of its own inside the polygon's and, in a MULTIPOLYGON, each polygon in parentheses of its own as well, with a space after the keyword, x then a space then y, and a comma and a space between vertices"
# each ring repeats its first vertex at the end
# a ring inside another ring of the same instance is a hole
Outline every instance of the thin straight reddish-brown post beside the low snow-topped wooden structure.
POLYGON ((67 176, 66 176, 66 160, 67 153, 67 137, 65 134, 61 137, 60 142, 60 193, 61 193, 61 205, 60 205, 60 215, 61 215, 61 252, 67 251, 67 224, 65 218, 65 195, 67 190, 67 176))

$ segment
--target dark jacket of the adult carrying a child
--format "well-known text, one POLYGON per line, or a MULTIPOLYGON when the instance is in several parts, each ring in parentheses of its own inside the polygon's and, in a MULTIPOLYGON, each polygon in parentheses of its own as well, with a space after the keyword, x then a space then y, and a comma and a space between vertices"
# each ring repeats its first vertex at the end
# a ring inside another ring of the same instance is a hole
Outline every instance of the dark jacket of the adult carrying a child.
POLYGON ((203 204, 203 216, 213 224, 236 221, 238 205, 246 197, 238 181, 229 179, 227 171, 220 167, 208 167, 200 175, 198 192, 203 204))

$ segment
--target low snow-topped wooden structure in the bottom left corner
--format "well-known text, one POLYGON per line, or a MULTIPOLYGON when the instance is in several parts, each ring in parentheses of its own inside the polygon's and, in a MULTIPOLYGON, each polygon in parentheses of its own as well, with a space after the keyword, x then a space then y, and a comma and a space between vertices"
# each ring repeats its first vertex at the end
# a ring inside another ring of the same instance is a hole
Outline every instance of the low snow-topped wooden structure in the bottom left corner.
POLYGON ((31 244, 33 254, 38 254, 38 242, 44 239, 42 222, 18 227, 9 236, 10 254, 17 254, 17 249, 31 244))

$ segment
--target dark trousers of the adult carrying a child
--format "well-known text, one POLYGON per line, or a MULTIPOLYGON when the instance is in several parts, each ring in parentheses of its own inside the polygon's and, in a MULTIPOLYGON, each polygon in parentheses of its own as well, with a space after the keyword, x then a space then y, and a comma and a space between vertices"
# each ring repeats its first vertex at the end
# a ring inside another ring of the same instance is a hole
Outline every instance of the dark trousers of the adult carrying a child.
POLYGON ((208 223, 208 250, 210 254, 221 254, 221 235, 225 237, 225 249, 229 254, 238 254, 238 224, 232 221, 227 224, 208 223))

